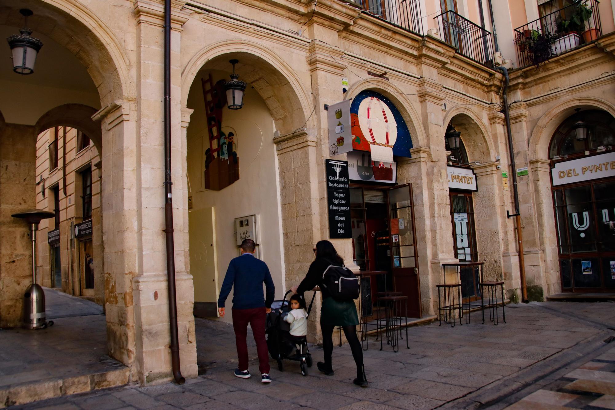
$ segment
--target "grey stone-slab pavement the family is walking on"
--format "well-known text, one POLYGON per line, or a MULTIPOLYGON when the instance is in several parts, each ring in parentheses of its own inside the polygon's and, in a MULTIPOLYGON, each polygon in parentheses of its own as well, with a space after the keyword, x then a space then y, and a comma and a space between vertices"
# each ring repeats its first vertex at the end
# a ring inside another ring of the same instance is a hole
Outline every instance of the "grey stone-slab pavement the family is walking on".
MULTIPOLYGON (((272 361, 270 385, 257 377, 237 379, 231 373, 237 366, 232 327, 197 319, 199 364, 205 371, 199 378, 182 386, 116 388, 22 408, 613 408, 615 344, 608 337, 615 336, 614 313, 615 304, 608 302, 530 303, 508 305, 507 323, 498 326, 480 324, 475 312, 469 325, 410 328, 410 349, 403 343, 398 353, 386 345, 380 351, 379 344, 370 343, 364 352, 369 388, 352 384, 355 369, 346 345, 333 352, 334 376, 314 366, 303 377, 291 361, 279 372, 272 361)), ((257 372, 253 341, 248 346, 250 368, 257 372)), ((311 352, 314 361, 322 360, 320 348, 311 352)))

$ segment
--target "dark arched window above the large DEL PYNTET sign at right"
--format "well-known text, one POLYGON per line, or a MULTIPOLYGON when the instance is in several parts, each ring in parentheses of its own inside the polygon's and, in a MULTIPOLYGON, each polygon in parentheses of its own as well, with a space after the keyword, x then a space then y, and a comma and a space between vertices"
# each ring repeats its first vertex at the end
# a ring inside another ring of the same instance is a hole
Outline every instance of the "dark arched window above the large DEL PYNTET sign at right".
POLYGON ((585 151, 613 145, 615 118, 605 111, 580 111, 566 118, 555 131, 549 146, 549 158, 583 155, 585 151))

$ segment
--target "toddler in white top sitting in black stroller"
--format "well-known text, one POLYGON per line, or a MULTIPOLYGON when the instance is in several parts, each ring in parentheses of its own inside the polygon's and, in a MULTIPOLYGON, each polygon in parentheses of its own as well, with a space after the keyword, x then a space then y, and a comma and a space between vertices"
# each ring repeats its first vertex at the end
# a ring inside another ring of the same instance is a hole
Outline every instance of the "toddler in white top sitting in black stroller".
POLYGON ((290 291, 286 292, 284 300, 275 300, 271 304, 271 313, 268 315, 265 331, 267 347, 271 357, 277 360, 280 371, 284 371, 282 359, 295 360, 300 362, 301 374, 307 376, 308 368, 312 366, 312 356, 306 340, 308 332, 306 318, 312 309, 314 297, 306 312, 305 301, 299 295, 293 295, 290 300, 286 300, 289 293, 290 291))

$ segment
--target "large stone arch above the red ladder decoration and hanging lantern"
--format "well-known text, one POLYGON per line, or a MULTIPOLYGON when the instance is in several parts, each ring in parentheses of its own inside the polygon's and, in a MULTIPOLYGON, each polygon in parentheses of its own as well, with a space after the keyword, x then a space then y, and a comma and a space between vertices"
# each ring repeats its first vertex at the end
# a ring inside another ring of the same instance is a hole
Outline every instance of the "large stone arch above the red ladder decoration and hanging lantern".
POLYGON ((239 60, 236 73, 263 97, 282 135, 308 126, 314 102, 292 67, 261 44, 239 39, 205 47, 186 63, 181 73, 181 107, 186 108, 192 82, 199 71, 206 65, 210 69, 229 71, 230 58, 239 60), (276 87, 276 92, 266 92, 268 87, 276 87))

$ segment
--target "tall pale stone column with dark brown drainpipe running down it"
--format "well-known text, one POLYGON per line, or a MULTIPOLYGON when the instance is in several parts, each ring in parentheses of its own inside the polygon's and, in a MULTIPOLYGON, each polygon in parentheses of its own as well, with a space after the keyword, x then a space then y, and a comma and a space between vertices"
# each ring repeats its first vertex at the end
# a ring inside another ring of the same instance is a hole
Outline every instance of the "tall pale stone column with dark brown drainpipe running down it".
MULTIPOLYGON (((172 4, 171 16, 171 133, 173 230, 181 371, 197 375, 196 338, 192 306, 194 291, 188 274, 186 236, 186 140, 181 133, 181 25, 188 16, 185 2, 172 4)), ((132 286, 135 305, 135 354, 141 383, 171 377, 169 300, 164 213, 164 9, 162 2, 137 1, 137 161, 138 270, 132 286)), ((105 161, 103 161, 103 164, 105 161)))

